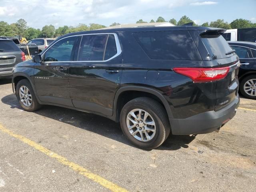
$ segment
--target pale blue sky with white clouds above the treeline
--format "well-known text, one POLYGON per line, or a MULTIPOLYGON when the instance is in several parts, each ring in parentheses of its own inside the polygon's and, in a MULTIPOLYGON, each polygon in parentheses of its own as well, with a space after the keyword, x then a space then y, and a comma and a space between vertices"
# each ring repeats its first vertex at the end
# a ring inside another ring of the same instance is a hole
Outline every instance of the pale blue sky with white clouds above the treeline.
POLYGON ((98 23, 109 26, 165 20, 183 15, 196 24, 243 18, 256 22, 256 0, 0 0, 0 21, 10 23, 23 18, 28 26, 78 26, 98 23))

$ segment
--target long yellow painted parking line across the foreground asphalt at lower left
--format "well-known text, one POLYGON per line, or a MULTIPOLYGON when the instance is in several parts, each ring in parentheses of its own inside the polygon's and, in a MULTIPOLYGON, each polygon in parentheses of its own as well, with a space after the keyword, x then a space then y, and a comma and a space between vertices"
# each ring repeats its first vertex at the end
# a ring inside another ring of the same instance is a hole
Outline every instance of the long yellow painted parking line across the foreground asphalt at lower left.
POLYGON ((28 138, 26 138, 22 135, 18 135, 16 133, 12 132, 11 130, 6 129, 1 124, 0 124, 0 130, 4 133, 9 134, 10 136, 13 136, 13 137, 23 141, 24 143, 26 143, 29 146, 35 148, 36 150, 42 152, 43 154, 46 154, 47 156, 58 160, 58 162, 60 162, 61 164, 69 166, 74 171, 78 172, 79 174, 97 182, 98 184, 108 188, 109 190, 111 190, 113 192, 128 192, 126 189, 102 178, 101 176, 98 176, 98 175, 88 171, 87 169, 83 168, 82 166, 67 160, 66 158, 52 152, 51 150, 48 150, 47 148, 37 144, 36 142, 29 140, 28 138))

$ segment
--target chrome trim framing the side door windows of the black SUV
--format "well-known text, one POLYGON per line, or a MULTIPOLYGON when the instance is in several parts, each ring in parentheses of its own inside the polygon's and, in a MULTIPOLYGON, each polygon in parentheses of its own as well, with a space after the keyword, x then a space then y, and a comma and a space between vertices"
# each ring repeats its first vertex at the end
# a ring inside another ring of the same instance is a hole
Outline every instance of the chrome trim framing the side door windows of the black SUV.
MULTIPOLYGON (((90 34, 79 34, 79 35, 67 36, 67 37, 61 38, 60 40, 63 40, 63 39, 65 39, 65 38, 69 38, 69 37, 86 36, 86 35, 114 35, 115 41, 116 41, 116 54, 115 54, 114 56, 112 56, 111 58, 109 58, 108 60, 102 60, 102 61, 43 61, 43 62, 44 62, 44 63, 53 63, 53 62, 54 62, 54 63, 58 63, 58 62, 62 62, 62 63, 65 63, 65 62, 72 62, 72 63, 75 63, 75 62, 86 62, 86 63, 108 62, 109 60, 112 60, 113 58, 119 56, 119 55, 122 53, 121 46, 120 46, 120 42, 119 42, 119 39, 118 39, 118 36, 117 36, 116 33, 90 33, 90 34)), ((52 46, 54 46, 57 42, 59 42, 60 40, 56 41, 54 44, 52 44, 50 47, 48 47, 47 50, 41 55, 41 57, 43 58, 43 57, 44 57, 44 54, 45 54, 52 46)), ((80 49, 81 42, 82 42, 82 38, 81 38, 81 40, 80 40, 79 49, 80 49)), ((79 49, 78 49, 78 52, 79 52, 79 49)))

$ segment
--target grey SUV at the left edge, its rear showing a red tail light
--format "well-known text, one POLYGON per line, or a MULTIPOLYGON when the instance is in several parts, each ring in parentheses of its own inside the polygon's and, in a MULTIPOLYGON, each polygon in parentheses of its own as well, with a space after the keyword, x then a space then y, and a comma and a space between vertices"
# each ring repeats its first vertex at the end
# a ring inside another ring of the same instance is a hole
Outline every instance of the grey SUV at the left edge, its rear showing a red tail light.
POLYGON ((12 76, 12 67, 24 60, 24 52, 12 40, 0 38, 0 78, 12 76))

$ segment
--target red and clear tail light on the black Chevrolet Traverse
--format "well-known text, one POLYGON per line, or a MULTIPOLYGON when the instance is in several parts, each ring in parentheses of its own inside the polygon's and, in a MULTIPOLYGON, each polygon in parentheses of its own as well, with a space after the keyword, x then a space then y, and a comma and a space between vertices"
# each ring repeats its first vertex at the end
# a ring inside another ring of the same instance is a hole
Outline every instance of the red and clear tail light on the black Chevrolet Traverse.
POLYGON ((220 68, 173 68, 174 72, 190 77, 194 82, 210 82, 224 79, 230 67, 220 68))

